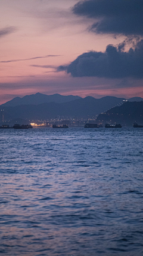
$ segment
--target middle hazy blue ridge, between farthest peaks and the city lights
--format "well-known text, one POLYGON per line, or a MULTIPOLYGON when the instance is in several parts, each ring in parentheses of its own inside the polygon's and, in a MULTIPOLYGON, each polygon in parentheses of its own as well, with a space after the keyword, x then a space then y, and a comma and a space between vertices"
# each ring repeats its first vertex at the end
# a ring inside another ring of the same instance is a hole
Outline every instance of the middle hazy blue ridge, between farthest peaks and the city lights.
POLYGON ((93 97, 79 98, 78 100, 66 103, 43 103, 39 105, 21 105, 15 107, 0 106, 4 109, 5 119, 22 118, 27 120, 46 120, 64 117, 89 118, 105 112, 111 107, 123 104, 124 98, 103 97, 95 99, 93 97))

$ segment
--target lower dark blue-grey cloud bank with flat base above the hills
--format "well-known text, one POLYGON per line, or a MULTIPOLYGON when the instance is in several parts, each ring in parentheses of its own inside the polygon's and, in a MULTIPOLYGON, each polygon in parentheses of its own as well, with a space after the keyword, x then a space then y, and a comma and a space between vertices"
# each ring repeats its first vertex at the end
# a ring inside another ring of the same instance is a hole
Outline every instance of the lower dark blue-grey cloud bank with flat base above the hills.
POLYGON ((129 52, 123 52, 124 47, 125 42, 118 47, 108 45, 104 53, 83 53, 69 66, 58 67, 58 71, 66 70, 73 77, 143 78, 143 40, 129 52))

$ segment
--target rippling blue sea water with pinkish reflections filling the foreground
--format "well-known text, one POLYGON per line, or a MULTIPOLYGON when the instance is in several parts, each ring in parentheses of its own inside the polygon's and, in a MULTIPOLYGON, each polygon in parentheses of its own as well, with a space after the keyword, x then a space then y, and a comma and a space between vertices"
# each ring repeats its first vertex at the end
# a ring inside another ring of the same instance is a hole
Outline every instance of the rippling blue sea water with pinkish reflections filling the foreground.
POLYGON ((142 128, 0 136, 0 255, 143 255, 142 128))

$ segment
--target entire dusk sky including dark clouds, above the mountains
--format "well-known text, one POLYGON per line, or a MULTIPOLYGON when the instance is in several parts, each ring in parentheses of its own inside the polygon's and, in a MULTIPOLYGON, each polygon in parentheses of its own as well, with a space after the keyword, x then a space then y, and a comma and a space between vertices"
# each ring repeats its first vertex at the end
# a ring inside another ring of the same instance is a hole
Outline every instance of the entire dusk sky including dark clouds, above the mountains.
POLYGON ((36 94, 143 98, 142 0, 1 0, 0 104, 36 94))

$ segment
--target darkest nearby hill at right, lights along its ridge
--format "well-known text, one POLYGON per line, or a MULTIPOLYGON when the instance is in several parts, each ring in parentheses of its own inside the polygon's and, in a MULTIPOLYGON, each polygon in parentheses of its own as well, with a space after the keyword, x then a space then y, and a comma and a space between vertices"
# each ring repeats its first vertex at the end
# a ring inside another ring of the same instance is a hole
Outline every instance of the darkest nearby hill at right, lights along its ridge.
POLYGON ((97 118, 98 123, 121 124, 132 126, 133 123, 143 125, 143 101, 126 102, 120 107, 114 107, 97 118))

